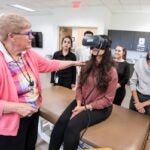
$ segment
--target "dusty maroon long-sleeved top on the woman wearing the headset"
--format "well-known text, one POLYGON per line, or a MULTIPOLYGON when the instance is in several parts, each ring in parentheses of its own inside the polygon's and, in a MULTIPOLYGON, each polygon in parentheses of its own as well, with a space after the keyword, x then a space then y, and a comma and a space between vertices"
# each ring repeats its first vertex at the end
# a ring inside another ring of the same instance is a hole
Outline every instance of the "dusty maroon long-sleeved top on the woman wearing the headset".
POLYGON ((85 100, 86 104, 90 104, 93 109, 103 109, 112 105, 116 93, 118 76, 114 67, 110 69, 108 74, 111 77, 111 80, 109 81, 108 88, 105 92, 97 88, 96 78, 91 73, 87 82, 82 87, 80 85, 77 87, 76 100, 80 100, 82 101, 82 104, 84 104, 84 99, 86 99, 87 95, 95 87, 92 93, 85 100))

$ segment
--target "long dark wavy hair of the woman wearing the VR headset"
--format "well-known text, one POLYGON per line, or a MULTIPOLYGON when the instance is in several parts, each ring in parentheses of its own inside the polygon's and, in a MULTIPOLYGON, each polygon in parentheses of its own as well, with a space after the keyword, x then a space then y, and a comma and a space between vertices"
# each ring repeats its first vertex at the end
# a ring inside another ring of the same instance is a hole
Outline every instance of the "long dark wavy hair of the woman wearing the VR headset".
POLYGON ((102 57, 102 61, 99 65, 96 65, 96 56, 92 55, 86 66, 81 69, 79 84, 83 86, 92 71, 96 76, 97 88, 102 91, 106 91, 109 81, 111 80, 108 72, 110 71, 111 67, 114 66, 114 61, 111 56, 110 38, 106 35, 102 35, 102 37, 107 40, 107 46, 104 49, 105 53, 102 57))

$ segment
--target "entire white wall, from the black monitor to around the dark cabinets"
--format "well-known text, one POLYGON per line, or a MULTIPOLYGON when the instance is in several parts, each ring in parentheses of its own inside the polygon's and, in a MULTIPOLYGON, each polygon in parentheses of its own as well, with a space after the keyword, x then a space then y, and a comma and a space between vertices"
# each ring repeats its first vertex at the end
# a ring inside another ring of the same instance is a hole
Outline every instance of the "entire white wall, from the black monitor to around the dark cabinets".
MULTIPOLYGON (((33 31, 43 33, 43 49, 35 48, 42 55, 58 50, 59 26, 97 27, 98 34, 108 29, 150 32, 150 14, 111 13, 103 7, 79 9, 54 9, 49 15, 28 16, 33 31)), ((139 59, 145 53, 128 51, 128 58, 139 59)))

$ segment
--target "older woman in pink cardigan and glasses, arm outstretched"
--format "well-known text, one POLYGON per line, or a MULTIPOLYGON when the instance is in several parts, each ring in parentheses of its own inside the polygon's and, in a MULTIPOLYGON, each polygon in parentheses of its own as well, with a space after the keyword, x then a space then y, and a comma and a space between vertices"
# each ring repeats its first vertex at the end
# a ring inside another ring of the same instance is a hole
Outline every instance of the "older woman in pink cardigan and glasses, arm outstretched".
POLYGON ((47 60, 31 50, 30 22, 16 14, 0 17, 0 149, 34 150, 41 105, 39 73, 79 61, 47 60))

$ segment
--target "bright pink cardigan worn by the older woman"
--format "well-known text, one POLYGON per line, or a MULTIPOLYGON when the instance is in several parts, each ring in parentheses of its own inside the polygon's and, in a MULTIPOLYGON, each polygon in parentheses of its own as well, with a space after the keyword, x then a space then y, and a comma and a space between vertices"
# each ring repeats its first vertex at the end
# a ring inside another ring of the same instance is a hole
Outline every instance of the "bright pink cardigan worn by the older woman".
MULTIPOLYGON (((39 73, 58 71, 60 63, 58 60, 48 60, 33 50, 27 50, 24 58, 28 61, 36 79, 40 93, 38 106, 41 104, 41 84, 39 73)), ((16 136, 20 123, 20 116, 17 113, 3 114, 5 101, 19 102, 16 86, 11 73, 7 67, 2 52, 0 52, 0 135, 16 136)))

